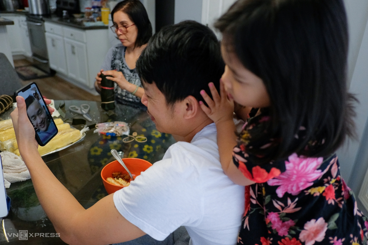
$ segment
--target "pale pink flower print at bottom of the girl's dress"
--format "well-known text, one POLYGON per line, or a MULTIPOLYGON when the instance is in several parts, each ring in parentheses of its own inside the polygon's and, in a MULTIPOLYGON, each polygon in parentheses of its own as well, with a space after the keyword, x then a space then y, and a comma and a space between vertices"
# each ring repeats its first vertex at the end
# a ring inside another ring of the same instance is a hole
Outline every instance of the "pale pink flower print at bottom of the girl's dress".
POLYGON ((305 245, 312 245, 316 241, 321 242, 326 235, 327 223, 322 217, 317 221, 312 219, 304 224, 304 230, 299 234, 299 239, 305 242, 305 245))

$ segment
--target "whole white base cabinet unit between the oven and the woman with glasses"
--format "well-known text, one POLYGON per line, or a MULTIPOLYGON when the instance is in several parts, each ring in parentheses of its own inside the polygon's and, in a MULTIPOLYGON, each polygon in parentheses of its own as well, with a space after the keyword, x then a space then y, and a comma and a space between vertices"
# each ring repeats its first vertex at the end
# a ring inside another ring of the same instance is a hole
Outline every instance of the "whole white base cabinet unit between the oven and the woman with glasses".
POLYGON ((84 30, 45 22, 50 68, 57 75, 90 93, 109 45, 109 29, 84 30))

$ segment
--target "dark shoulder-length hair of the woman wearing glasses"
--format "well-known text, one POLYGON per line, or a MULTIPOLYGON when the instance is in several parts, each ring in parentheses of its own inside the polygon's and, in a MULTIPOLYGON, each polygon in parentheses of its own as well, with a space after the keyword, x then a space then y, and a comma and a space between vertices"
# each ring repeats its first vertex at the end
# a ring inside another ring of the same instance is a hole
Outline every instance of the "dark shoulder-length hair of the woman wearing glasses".
POLYGON ((114 14, 117 11, 123 11, 127 14, 130 20, 137 26, 138 35, 134 47, 140 47, 146 43, 152 36, 152 26, 148 19, 148 14, 139 0, 124 0, 116 4, 111 11, 111 19, 114 21, 114 14))

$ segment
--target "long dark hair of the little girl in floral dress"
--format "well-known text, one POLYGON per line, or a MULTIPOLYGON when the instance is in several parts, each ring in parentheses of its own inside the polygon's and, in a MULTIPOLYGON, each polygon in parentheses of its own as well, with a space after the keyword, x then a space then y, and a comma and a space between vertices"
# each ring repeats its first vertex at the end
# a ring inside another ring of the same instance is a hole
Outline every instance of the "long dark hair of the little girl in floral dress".
POLYGON ((274 159, 327 156, 355 136, 343 0, 238 0, 215 27, 227 50, 266 86, 268 131, 281 140, 274 159), (305 137, 295 141, 301 126, 305 137))

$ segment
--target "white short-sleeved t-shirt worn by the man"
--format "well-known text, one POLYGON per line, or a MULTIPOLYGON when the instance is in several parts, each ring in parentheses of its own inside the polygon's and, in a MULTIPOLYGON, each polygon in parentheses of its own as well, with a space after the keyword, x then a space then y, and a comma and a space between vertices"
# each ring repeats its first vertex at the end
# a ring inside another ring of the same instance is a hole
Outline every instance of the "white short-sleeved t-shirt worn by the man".
POLYGON ((114 204, 156 240, 185 226, 193 245, 234 245, 244 213, 244 186, 224 174, 212 123, 191 143, 171 145, 161 161, 114 193, 114 204))

